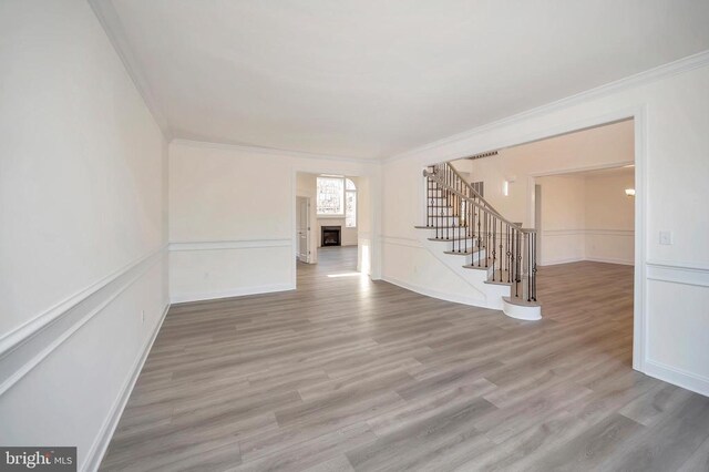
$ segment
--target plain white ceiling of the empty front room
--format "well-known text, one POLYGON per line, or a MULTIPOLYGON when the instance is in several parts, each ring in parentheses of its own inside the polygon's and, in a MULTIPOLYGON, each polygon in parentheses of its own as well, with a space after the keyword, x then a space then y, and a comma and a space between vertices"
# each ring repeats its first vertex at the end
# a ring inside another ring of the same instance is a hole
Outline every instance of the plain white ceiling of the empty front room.
POLYGON ((362 158, 709 49, 706 0, 93 2, 175 136, 362 158))

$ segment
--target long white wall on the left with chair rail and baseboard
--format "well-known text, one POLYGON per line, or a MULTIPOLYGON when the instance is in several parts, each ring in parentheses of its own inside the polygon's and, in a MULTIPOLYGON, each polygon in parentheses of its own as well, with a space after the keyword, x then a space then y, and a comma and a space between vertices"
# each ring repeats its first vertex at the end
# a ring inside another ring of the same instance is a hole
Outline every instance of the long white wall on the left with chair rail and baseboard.
POLYGON ((86 2, 0 31, 0 444, 92 468, 168 302, 166 146, 86 2))

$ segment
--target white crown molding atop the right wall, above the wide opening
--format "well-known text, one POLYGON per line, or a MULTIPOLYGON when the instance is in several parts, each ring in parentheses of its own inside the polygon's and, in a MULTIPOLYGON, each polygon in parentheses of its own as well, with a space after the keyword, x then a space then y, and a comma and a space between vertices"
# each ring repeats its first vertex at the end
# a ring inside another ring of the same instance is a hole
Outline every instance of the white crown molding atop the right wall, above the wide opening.
POLYGON ((658 65, 657 68, 653 68, 634 75, 628 75, 627 78, 619 79, 617 81, 609 82, 607 84, 604 84, 594 89, 589 89, 587 91, 579 92, 561 100, 556 100, 545 105, 541 105, 541 106, 526 110, 524 112, 521 112, 501 120, 496 120, 496 121, 473 127, 462 133, 456 133, 448 137, 443 137, 441 140, 430 142, 428 144, 411 148, 403 153, 389 156, 384 158, 382 162, 388 163, 388 162, 399 161, 402 158, 413 157, 425 151, 431 151, 446 144, 464 141, 497 127, 511 125, 524 120, 545 115, 559 109, 568 107, 588 100, 599 99, 602 96, 610 95, 613 93, 617 93, 627 89, 633 89, 647 83, 656 82, 676 74, 691 71, 693 69, 702 68, 705 65, 709 65, 709 50, 699 52, 697 54, 688 55, 686 58, 679 59, 674 62, 668 62, 667 64, 658 65))

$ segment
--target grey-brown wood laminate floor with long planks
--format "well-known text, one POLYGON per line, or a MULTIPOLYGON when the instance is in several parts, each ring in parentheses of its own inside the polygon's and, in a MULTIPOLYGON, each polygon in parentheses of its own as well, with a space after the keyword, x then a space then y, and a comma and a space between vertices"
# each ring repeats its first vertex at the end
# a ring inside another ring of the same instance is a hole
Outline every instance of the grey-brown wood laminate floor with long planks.
POLYGON ((356 256, 174 306, 101 469, 709 470, 709 399, 630 367, 631 267, 541 268, 525 322, 372 283, 356 256))

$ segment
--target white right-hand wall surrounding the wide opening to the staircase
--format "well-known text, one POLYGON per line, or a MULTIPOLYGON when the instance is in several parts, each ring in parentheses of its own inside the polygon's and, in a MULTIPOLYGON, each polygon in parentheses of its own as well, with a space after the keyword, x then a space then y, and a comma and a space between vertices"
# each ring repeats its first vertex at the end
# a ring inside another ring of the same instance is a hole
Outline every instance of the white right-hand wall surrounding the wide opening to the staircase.
MULTIPOLYGON (((709 201, 708 62, 709 54, 703 54, 389 160, 382 171, 382 277, 411 287, 456 289, 455 276, 442 274, 412 243, 413 225, 422 222, 421 171, 427 164, 636 115, 641 160, 636 164, 643 177, 636 178, 636 234, 643 237, 636 245, 636 307, 643 316, 636 318, 634 362, 653 376, 709 394, 709 218, 699 211, 709 201), (659 244, 660 230, 672 232, 672 245, 659 244)), ((563 162, 559 157, 552 168, 563 162)), ((530 223, 527 214, 508 217, 530 223)))

